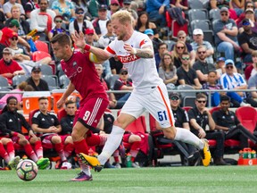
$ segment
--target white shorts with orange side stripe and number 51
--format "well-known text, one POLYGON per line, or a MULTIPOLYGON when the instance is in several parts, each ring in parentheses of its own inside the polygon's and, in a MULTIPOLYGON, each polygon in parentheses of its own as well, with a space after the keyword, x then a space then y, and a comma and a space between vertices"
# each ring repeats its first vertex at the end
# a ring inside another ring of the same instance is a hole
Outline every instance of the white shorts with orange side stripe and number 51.
POLYGON ((133 91, 125 105, 123 105, 121 113, 128 113, 138 118, 146 110, 153 115, 162 128, 174 126, 175 120, 170 108, 170 99, 165 84, 162 83, 152 89, 150 93, 144 95, 133 91))

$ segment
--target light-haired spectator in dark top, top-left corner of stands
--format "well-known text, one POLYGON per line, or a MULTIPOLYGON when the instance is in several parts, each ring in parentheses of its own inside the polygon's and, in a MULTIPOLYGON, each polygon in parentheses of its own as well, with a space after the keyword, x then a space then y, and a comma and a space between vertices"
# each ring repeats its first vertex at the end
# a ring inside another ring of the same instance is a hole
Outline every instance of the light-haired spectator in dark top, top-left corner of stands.
POLYGON ((20 28, 18 29, 19 36, 25 36, 29 33, 29 22, 26 20, 21 19, 21 8, 20 6, 13 5, 11 8, 11 17, 5 21, 5 26, 9 26, 9 23, 13 20, 19 21, 20 28))

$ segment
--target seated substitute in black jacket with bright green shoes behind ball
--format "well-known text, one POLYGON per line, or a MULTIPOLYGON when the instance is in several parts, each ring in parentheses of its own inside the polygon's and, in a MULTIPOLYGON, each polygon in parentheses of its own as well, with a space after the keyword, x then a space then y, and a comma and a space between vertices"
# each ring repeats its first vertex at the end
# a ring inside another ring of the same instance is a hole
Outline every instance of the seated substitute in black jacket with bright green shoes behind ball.
POLYGON ((43 148, 40 138, 34 134, 24 116, 17 112, 18 100, 15 96, 9 96, 2 114, 0 115, 0 130, 12 136, 12 142, 24 148, 26 155, 29 156, 39 169, 46 169, 50 164, 48 158, 43 157, 43 148), (21 127, 28 131, 28 136, 22 134, 21 127), (32 145, 34 150, 32 149, 32 145))

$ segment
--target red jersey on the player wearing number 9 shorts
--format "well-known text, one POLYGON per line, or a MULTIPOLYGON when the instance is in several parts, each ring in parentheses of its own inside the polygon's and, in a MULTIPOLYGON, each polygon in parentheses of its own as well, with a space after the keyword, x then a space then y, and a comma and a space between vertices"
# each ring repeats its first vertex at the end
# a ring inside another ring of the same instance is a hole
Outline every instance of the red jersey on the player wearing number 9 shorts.
POLYGON ((90 97, 107 99, 104 87, 95 71, 95 64, 89 60, 89 52, 74 52, 69 61, 61 61, 62 70, 75 89, 82 96, 81 104, 90 97))

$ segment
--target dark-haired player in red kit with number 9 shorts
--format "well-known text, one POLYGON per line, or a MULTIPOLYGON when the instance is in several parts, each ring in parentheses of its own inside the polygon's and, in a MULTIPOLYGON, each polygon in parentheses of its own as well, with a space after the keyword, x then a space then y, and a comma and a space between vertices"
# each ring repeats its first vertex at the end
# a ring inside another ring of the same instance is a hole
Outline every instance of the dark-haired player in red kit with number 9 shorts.
MULTIPOLYGON (((66 98, 70 96, 75 89, 79 91, 79 94, 82 96, 79 102, 79 109, 75 115, 71 137, 75 147, 75 153, 84 153, 87 155, 88 148, 85 140, 87 131, 96 127, 104 110, 109 105, 109 101, 104 87, 95 71, 95 64, 89 59, 88 48, 84 48, 86 45, 84 35, 81 33, 76 35, 79 36, 79 38, 74 38, 73 35, 73 41, 82 52, 72 51, 71 39, 66 34, 57 34, 54 36, 54 38, 51 39, 51 45, 54 55, 61 59, 62 70, 70 79, 70 84, 57 102, 57 107, 62 107, 66 98)), ((88 165, 83 164, 80 159, 79 164, 81 172, 77 178, 71 180, 92 180, 88 165)))

